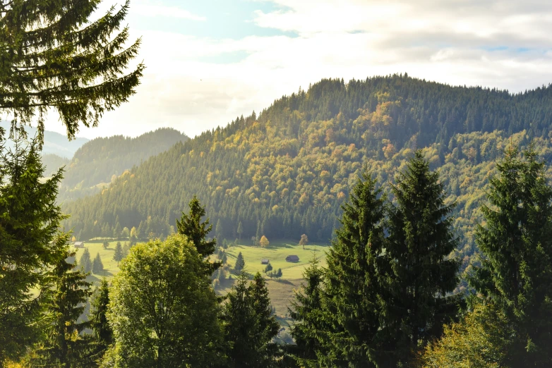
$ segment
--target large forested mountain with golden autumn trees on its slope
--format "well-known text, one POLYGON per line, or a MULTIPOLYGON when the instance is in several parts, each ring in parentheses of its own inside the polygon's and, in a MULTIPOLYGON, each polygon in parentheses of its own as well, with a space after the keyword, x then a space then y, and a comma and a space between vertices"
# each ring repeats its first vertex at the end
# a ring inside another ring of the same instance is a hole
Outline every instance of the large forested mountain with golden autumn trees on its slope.
POLYGON ((136 226, 167 235, 193 195, 217 235, 328 240, 340 205, 367 168, 388 187, 412 150, 426 147, 456 201, 460 252, 474 249, 484 185, 510 140, 552 158, 552 87, 521 94, 451 87, 407 75, 322 80, 178 143, 120 176, 101 193, 64 205, 78 238, 136 226), (550 135, 550 136, 549 136, 550 135), (242 233, 238 233, 239 223, 242 233))

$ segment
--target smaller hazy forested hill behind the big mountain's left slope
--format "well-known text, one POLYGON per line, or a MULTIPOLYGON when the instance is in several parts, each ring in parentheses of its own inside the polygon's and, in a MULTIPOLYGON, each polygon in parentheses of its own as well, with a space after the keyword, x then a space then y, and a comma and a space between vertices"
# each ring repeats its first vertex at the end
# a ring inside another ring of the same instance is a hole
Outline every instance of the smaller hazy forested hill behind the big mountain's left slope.
MULTIPOLYGON (((58 199, 64 201, 94 194, 125 170, 186 140, 188 137, 184 133, 172 128, 160 128, 136 138, 114 135, 91 140, 80 147, 66 165, 58 199)), ((51 161, 47 159, 45 157, 45 163, 51 161)), ((64 163, 60 161, 60 164, 64 163)), ((48 170, 50 166, 47 164, 48 170)))

